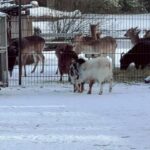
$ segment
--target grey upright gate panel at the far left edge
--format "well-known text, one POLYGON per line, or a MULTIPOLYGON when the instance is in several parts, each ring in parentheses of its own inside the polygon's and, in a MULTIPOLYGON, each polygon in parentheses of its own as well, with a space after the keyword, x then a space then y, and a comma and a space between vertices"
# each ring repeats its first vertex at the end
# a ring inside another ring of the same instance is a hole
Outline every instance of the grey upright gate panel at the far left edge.
POLYGON ((6 14, 0 13, 0 86, 8 86, 6 14))

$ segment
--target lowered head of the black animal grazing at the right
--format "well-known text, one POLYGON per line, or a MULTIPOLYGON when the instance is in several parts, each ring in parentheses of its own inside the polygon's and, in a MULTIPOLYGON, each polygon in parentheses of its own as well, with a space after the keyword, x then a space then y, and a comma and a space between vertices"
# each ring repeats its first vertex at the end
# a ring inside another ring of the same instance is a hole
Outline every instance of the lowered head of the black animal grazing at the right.
POLYGON ((130 58, 131 54, 121 54, 121 59, 120 59, 120 69, 121 70, 126 70, 129 66, 129 64, 131 63, 131 58, 130 58))

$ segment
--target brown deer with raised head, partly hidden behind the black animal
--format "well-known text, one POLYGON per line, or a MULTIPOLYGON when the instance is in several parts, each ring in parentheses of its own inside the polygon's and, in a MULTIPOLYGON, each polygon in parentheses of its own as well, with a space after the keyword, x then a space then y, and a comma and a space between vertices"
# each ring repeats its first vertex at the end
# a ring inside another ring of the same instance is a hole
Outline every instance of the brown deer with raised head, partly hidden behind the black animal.
POLYGON ((131 39, 131 43, 132 43, 133 46, 135 44, 139 43, 139 42, 142 42, 142 41, 145 41, 145 40, 150 40, 150 37, 148 37, 147 35, 145 35, 144 38, 140 38, 139 37, 140 31, 141 30, 139 30, 137 27, 130 28, 126 31, 124 36, 131 39))

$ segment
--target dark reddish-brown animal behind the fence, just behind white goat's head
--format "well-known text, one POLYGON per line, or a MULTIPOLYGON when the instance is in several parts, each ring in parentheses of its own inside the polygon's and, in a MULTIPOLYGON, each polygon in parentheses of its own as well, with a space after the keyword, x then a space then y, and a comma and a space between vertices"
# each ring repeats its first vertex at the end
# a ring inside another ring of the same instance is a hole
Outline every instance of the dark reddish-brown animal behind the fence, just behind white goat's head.
POLYGON ((78 55, 73 51, 73 46, 69 44, 58 45, 55 54, 58 58, 58 69, 56 73, 58 73, 59 70, 60 81, 62 81, 63 74, 69 73, 72 59, 78 59, 78 55))

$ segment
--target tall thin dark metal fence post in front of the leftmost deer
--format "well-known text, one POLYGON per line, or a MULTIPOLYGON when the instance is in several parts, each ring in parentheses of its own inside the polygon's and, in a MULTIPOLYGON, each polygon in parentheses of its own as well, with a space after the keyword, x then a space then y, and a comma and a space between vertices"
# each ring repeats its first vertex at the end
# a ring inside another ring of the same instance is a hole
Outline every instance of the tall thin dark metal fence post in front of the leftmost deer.
POLYGON ((22 62, 21 62, 21 38, 22 38, 22 34, 21 34, 21 0, 19 0, 19 9, 18 9, 18 14, 19 14, 19 45, 18 45, 18 49, 19 49, 19 85, 22 84, 21 81, 21 76, 22 76, 22 62))

